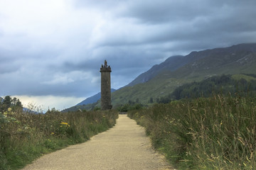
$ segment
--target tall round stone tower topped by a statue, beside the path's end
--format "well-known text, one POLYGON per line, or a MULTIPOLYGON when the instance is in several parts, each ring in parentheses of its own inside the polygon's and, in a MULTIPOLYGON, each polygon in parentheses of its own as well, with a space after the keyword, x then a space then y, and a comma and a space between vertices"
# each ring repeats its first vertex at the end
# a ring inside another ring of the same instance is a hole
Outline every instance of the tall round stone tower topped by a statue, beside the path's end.
POLYGON ((112 108, 111 105, 111 84, 110 84, 110 72, 111 67, 107 65, 105 60, 104 65, 100 68, 101 72, 101 109, 102 111, 112 108))

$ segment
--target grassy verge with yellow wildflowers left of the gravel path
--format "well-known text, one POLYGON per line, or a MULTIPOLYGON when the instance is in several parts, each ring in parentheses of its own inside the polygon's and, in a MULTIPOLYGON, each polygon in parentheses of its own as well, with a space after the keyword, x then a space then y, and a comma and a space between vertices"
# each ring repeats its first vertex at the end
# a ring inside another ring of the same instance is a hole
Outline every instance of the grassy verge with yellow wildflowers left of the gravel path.
POLYGON ((37 157, 89 140, 111 128, 117 111, 0 113, 0 169, 20 169, 37 157))

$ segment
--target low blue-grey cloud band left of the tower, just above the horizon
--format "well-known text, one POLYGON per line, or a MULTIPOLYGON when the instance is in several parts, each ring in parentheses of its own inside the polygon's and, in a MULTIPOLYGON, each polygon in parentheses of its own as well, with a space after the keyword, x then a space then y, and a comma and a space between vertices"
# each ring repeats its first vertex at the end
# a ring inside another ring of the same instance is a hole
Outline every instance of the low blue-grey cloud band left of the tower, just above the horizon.
MULTIPOLYGON (((11 76, 12 74, 9 74, 11 76)), ((28 95, 28 96, 87 96, 92 91, 99 91, 97 84, 90 82, 90 79, 76 80, 67 84, 43 84, 43 76, 26 74, 26 76, 9 79, 1 77, 1 94, 4 95, 28 95), (6 88, 8 86, 8 88, 6 88)), ((45 78, 45 77, 44 77, 45 78)), ((48 77, 51 80, 50 77, 48 77)))

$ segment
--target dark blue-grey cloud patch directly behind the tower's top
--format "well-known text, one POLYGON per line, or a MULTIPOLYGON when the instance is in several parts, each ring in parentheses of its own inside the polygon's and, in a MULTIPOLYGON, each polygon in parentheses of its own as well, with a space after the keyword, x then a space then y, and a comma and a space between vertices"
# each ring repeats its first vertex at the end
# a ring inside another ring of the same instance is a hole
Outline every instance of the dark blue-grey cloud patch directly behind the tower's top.
MULTIPOLYGON (((148 69, 151 64, 154 64, 153 60, 148 61, 145 57, 143 57, 143 52, 139 50, 134 50, 134 52, 127 52, 124 50, 123 52, 116 47, 114 49, 110 49, 108 52, 102 49, 102 53, 97 56, 95 60, 86 60, 80 61, 78 63, 75 62, 64 62, 58 65, 58 70, 62 72, 71 72, 71 71, 81 71, 81 72, 90 72, 93 77, 100 76, 100 67, 101 64, 104 64, 104 60, 107 60, 110 67, 112 67, 112 74, 115 76, 131 76, 134 77, 138 74, 138 72, 143 72, 145 69, 148 69), (131 60, 135 58, 136 60, 131 60)), ((53 67, 53 66, 51 66, 53 67)))

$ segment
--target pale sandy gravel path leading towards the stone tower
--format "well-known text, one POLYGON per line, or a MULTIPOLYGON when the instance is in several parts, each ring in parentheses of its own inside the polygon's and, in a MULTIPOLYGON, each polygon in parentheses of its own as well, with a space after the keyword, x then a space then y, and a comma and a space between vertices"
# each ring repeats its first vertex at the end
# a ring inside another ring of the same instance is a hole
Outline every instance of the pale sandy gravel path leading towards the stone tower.
POLYGON ((80 145, 46 154, 24 169, 171 169, 151 149, 144 128, 127 115, 119 115, 114 128, 80 145))

